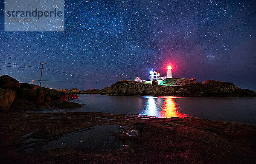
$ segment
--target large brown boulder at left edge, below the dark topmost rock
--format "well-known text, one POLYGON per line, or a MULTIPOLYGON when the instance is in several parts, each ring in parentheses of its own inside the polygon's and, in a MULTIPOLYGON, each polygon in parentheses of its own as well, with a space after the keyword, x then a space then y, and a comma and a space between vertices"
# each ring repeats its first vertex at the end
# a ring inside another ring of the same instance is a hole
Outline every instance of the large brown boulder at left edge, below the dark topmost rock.
POLYGON ((11 89, 1 89, 0 88, 0 109, 6 110, 9 109, 12 105, 16 96, 15 91, 11 89))

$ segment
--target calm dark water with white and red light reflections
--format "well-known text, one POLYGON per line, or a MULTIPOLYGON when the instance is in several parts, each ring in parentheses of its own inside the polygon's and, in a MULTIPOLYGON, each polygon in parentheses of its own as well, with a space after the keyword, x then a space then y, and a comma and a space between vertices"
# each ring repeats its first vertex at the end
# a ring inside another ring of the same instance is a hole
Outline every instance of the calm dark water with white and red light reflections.
POLYGON ((156 117, 192 116, 256 125, 256 97, 79 95, 79 99, 73 99, 72 102, 86 105, 71 110, 61 109, 61 111, 144 114, 156 117))

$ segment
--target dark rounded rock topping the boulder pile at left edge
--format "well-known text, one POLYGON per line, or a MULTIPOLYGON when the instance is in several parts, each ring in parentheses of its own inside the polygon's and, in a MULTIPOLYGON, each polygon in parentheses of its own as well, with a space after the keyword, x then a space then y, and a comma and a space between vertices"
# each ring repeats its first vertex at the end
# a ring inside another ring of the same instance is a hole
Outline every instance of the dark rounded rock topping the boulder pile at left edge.
POLYGON ((0 76, 0 88, 9 88, 15 91, 17 88, 20 88, 20 82, 11 76, 3 75, 0 76))

